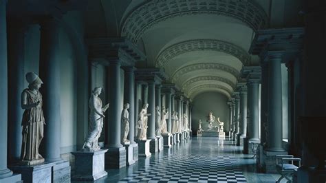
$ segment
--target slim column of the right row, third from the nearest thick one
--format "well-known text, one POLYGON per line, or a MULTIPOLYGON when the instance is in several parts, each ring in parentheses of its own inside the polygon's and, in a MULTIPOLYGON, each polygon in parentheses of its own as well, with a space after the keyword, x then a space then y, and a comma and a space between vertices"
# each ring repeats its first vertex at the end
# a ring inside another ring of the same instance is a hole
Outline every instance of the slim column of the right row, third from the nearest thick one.
MULTIPOLYGON (((257 95, 258 98, 258 95, 257 95)), ((243 86, 240 92, 240 131, 238 135, 237 145, 243 145, 243 138, 247 133, 247 87, 243 86)), ((258 122, 258 121, 257 121, 258 122)))

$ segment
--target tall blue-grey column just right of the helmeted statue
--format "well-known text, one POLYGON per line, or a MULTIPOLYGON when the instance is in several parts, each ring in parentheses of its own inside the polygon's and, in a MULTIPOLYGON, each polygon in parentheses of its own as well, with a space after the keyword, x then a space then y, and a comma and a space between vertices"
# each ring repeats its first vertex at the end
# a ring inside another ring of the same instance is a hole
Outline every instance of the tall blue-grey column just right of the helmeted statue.
POLYGON ((58 21, 48 19, 41 23, 40 77, 43 80, 43 112, 45 117, 45 161, 61 160, 60 115, 60 61, 58 59, 58 21))

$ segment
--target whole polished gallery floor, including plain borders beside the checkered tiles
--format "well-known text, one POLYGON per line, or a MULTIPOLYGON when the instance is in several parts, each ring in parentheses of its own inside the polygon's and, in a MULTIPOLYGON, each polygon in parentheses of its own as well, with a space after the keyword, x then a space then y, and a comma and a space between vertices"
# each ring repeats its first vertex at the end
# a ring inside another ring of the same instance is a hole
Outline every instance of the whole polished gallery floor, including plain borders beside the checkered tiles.
POLYGON ((279 175, 256 173, 256 160, 226 139, 195 137, 140 158, 132 166, 108 169, 96 182, 275 182, 279 175))

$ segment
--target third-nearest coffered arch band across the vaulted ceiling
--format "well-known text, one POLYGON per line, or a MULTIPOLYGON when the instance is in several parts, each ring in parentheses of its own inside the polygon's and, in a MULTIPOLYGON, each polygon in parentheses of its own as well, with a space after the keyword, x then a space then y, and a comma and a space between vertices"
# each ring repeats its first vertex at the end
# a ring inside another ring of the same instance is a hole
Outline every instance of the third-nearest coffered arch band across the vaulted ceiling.
POLYGON ((240 75, 240 72, 237 69, 230 67, 228 65, 223 65, 220 63, 195 63, 192 65, 186 65, 185 67, 177 69, 177 71, 175 71, 171 76, 172 81, 173 81, 173 83, 176 83, 177 78, 180 78, 180 76, 187 74, 189 72, 202 70, 202 69, 215 69, 215 70, 217 70, 217 72, 218 71, 228 72, 228 73, 232 74, 233 76, 235 76, 235 78, 238 78, 240 75))

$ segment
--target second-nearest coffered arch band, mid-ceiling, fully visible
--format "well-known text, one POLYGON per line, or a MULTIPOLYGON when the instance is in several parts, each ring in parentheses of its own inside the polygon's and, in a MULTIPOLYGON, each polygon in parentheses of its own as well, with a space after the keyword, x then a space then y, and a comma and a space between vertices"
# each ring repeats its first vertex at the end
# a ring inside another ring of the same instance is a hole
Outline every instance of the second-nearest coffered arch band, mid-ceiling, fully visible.
POLYGON ((194 39, 171 45, 160 52, 160 54, 157 56, 155 67, 164 67, 166 63, 168 63, 175 56, 198 50, 225 52, 238 58, 243 65, 248 65, 250 61, 250 55, 237 45, 217 39, 194 39))

